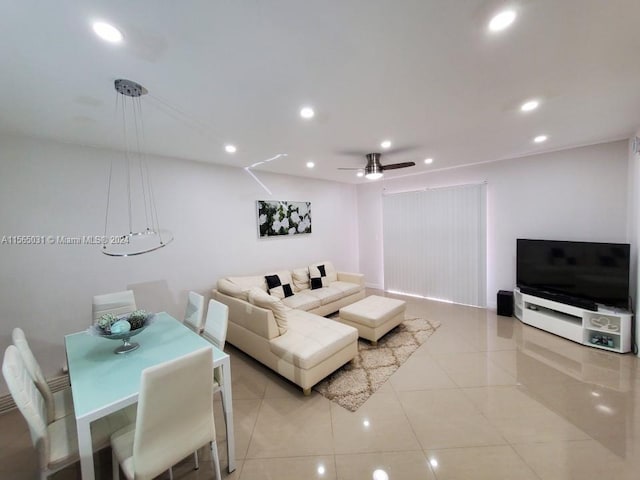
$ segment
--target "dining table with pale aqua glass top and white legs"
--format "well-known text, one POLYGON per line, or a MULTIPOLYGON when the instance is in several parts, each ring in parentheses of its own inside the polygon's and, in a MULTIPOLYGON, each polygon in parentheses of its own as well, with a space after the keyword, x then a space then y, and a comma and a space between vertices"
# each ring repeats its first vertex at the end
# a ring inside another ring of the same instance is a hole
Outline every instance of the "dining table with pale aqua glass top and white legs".
POLYGON ((137 402, 142 370, 203 347, 212 347, 214 367, 223 369, 221 392, 229 472, 235 470, 229 355, 164 312, 157 314, 155 320, 132 340, 139 343, 140 348, 118 355, 114 353, 118 341, 87 332, 65 337, 82 478, 95 478, 91 422, 137 402))

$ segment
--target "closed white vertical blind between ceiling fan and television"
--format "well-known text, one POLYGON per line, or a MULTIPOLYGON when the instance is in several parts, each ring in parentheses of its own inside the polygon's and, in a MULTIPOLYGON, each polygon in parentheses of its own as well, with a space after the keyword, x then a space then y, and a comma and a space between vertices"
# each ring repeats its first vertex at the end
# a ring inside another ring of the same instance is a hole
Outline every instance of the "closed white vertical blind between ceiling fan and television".
POLYGON ((383 197, 385 289, 486 306, 486 185, 383 197))

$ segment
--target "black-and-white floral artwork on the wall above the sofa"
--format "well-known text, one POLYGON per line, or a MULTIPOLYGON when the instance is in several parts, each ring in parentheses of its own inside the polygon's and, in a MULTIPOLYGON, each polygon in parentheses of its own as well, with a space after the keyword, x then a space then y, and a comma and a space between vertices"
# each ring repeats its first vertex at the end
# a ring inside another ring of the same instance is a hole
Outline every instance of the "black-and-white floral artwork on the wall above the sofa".
POLYGON ((260 238, 311 233, 311 202, 258 200, 260 238))

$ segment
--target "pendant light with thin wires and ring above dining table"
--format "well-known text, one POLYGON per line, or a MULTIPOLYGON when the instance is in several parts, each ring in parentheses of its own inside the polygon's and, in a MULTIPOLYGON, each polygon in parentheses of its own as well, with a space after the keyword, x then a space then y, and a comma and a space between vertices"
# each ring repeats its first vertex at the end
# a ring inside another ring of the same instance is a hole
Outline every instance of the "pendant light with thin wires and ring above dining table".
POLYGON ((115 81, 115 89, 116 113, 121 110, 122 115, 124 165, 112 161, 109 168, 102 253, 128 257, 165 247, 173 241, 173 234, 160 228, 149 162, 143 151, 140 98, 148 91, 124 79, 115 81), (130 145, 133 141, 135 144, 130 145))

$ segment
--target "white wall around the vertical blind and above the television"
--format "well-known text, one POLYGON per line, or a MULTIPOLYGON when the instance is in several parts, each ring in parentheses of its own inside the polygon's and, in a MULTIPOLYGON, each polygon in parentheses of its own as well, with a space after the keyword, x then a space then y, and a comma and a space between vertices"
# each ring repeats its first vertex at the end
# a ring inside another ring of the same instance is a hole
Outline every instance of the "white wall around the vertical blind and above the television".
POLYGON ((383 191, 487 182, 487 305, 512 290, 516 238, 627 242, 628 144, 619 141, 358 186, 360 271, 384 283, 383 191))

